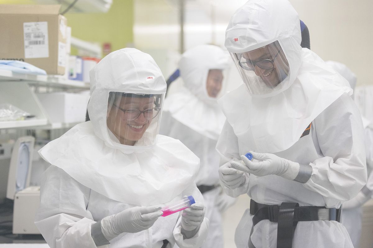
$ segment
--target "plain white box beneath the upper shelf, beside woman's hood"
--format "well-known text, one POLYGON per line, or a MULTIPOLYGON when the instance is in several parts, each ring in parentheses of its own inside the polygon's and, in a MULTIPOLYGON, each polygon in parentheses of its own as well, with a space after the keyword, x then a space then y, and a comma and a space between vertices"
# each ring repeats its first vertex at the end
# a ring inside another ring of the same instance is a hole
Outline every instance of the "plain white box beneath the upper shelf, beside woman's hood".
POLYGON ((37 94, 51 122, 84 122, 89 94, 39 93, 37 94))

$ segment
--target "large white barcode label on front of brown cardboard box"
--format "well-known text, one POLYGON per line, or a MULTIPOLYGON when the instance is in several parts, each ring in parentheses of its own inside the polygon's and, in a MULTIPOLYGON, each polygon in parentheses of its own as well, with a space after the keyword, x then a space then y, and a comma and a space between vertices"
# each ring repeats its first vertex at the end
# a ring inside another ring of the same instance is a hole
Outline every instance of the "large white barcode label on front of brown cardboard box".
POLYGON ((48 58, 48 22, 24 22, 25 58, 48 58))

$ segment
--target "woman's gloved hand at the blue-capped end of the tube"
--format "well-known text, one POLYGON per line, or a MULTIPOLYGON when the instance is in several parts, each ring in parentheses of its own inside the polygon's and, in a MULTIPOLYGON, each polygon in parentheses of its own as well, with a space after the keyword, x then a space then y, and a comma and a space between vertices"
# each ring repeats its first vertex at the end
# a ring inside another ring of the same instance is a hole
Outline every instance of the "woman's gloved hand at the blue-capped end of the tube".
POLYGON ((195 202, 183 210, 181 215, 181 233, 185 238, 192 238, 198 232, 205 217, 205 212, 206 208, 201 202, 195 202))

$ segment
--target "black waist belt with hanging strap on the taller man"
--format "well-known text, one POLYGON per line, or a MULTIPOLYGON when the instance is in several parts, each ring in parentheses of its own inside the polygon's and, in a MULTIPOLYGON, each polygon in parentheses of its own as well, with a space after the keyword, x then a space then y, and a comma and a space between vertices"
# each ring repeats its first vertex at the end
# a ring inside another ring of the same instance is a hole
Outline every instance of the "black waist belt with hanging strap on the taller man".
POLYGON ((277 222, 277 248, 291 248, 298 221, 336 220, 340 222, 342 210, 317 206, 300 207, 298 203, 283 202, 278 205, 266 205, 250 202, 250 214, 253 227, 249 238, 249 248, 255 248, 251 242, 254 226, 261 220, 277 222))

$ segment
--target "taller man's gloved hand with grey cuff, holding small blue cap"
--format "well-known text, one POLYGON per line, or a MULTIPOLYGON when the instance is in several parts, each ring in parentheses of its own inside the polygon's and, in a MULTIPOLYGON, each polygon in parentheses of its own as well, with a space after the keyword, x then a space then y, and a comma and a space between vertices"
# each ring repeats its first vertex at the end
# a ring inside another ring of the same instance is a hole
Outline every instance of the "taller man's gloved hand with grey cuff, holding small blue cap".
POLYGON ((241 159, 245 165, 235 163, 232 164, 232 167, 259 177, 264 175, 279 175, 288 180, 294 180, 299 173, 300 165, 297 162, 286 160, 270 153, 256 153, 252 151, 250 153, 253 155, 253 159, 259 161, 253 162, 241 155, 241 159))

